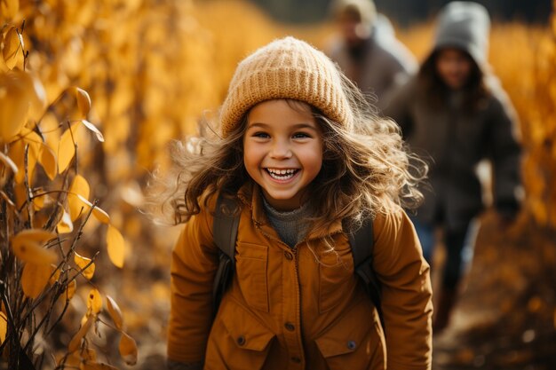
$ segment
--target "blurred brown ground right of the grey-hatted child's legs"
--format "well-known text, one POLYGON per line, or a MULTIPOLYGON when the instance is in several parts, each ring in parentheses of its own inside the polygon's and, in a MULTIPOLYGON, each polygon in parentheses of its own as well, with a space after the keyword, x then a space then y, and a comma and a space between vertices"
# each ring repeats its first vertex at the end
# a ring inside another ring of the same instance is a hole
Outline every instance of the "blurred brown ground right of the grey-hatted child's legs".
POLYGON ((435 335, 433 370, 556 369, 556 232, 520 216, 482 218, 450 327, 435 335))

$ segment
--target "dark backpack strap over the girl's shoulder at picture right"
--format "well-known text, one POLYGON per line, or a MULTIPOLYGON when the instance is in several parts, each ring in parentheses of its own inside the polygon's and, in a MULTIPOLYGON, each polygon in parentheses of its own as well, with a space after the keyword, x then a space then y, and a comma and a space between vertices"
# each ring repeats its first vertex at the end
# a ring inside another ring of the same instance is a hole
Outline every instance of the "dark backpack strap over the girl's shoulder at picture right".
POLYGON ((347 236, 349 238, 349 244, 352 247, 353 269, 361 278, 371 301, 377 308, 380 323, 382 327, 385 328, 382 305, 380 302, 381 288, 377 274, 372 266, 374 247, 373 219, 369 217, 355 232, 347 232, 347 236))

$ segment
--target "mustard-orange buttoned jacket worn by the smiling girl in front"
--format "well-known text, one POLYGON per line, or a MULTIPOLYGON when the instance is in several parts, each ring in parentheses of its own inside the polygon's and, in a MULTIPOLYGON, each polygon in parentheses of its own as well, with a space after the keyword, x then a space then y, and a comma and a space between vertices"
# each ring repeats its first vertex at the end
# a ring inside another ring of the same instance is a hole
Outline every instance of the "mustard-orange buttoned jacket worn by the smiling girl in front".
MULTIPOLYGON (((400 208, 374 221, 374 269, 385 333, 353 273, 338 221, 336 253, 319 235, 289 248, 267 222, 257 187, 244 186, 234 279, 212 320, 218 248, 212 216, 192 217, 172 252, 168 358, 205 369, 431 368, 431 283, 417 235, 400 208)), ((212 202, 214 207, 214 201, 212 202)))

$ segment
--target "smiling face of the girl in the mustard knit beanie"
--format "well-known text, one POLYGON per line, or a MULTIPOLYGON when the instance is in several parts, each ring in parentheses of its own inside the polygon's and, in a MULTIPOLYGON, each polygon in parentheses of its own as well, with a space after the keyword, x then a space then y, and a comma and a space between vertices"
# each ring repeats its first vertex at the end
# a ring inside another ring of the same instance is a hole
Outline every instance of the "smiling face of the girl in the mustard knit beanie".
POLYGON ((251 108, 243 137, 243 162, 274 209, 301 206, 322 167, 322 131, 309 106, 283 99, 251 108))

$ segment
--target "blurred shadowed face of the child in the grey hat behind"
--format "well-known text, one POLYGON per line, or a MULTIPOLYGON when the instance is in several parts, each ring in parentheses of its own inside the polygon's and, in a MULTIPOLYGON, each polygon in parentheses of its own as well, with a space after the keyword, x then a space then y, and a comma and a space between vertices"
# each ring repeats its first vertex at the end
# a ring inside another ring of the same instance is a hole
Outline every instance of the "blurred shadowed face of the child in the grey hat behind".
POLYGON ((450 89, 457 90, 464 87, 472 68, 473 61, 464 51, 456 48, 444 48, 438 51, 436 71, 450 89))

